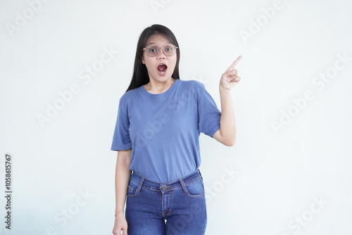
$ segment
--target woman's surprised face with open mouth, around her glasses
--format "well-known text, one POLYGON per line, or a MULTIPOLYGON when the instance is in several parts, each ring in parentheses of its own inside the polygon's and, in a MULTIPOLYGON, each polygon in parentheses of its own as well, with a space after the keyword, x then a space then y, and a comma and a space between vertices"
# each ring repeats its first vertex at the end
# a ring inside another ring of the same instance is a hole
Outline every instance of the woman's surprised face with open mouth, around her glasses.
MULTIPOLYGON (((165 47, 166 44, 172 44, 161 34, 155 34, 149 37, 146 46, 165 47)), ((174 49, 174 48, 172 48, 174 49)), ((177 49, 175 49, 177 50, 177 49)), ((166 82, 172 76, 177 62, 177 53, 173 56, 165 56, 163 49, 158 50, 154 57, 146 55, 146 50, 143 51, 142 63, 146 65, 149 74, 149 80, 153 79, 156 82, 166 82)))

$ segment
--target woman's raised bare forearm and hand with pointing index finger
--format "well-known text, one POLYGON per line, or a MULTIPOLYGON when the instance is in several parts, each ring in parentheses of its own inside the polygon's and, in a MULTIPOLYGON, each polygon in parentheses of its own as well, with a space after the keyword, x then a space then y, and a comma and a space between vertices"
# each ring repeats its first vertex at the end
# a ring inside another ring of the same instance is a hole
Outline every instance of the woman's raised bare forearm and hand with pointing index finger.
POLYGON ((219 91, 221 101, 220 129, 213 138, 226 146, 234 146, 236 142, 236 122, 232 106, 231 89, 241 80, 234 66, 241 61, 239 56, 221 76, 219 91))

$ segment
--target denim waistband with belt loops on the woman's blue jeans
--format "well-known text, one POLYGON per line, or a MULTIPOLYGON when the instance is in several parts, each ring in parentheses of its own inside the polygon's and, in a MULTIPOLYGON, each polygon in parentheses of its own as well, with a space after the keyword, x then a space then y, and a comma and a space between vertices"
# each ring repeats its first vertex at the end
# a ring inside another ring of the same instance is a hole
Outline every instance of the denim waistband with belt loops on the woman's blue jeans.
POLYGON ((191 184, 192 182, 195 182, 196 180, 199 180, 199 179, 203 180, 203 178, 201 177, 201 172, 199 170, 196 170, 196 172, 193 172, 181 179, 178 179, 174 182, 169 182, 169 183, 154 182, 150 179, 146 179, 142 177, 136 172, 132 172, 130 177, 130 180, 132 180, 135 184, 139 185, 139 189, 142 187, 145 189, 161 190, 161 191, 170 191, 181 187, 184 188, 185 185, 191 184))

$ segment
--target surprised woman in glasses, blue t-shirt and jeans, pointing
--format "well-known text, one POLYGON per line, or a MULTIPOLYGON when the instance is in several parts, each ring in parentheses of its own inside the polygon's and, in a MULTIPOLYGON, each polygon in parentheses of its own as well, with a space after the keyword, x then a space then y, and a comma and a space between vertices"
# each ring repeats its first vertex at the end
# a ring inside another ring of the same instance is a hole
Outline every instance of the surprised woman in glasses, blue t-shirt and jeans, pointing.
POLYGON ((205 233, 199 134, 234 145, 230 90, 240 80, 240 60, 220 79, 220 113, 201 82, 180 80, 175 35, 163 25, 142 32, 111 146, 118 151, 113 234, 126 235, 127 227, 129 235, 205 233))

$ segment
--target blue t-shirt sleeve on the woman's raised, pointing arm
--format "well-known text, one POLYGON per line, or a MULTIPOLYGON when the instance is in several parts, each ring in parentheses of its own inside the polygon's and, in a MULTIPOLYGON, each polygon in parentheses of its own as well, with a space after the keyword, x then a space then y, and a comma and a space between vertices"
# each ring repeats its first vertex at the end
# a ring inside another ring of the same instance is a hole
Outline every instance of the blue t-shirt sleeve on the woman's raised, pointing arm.
POLYGON ((220 129, 221 112, 210 96, 203 83, 196 81, 198 94, 198 129, 199 132, 213 138, 213 134, 220 129))

